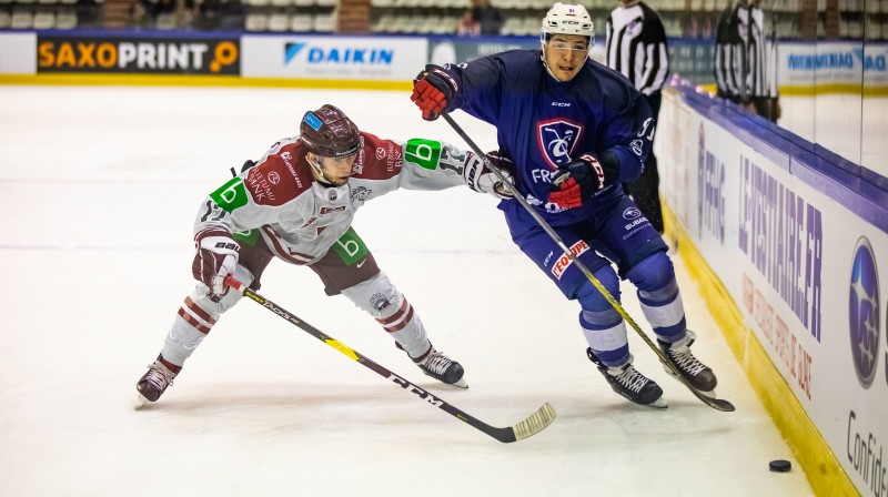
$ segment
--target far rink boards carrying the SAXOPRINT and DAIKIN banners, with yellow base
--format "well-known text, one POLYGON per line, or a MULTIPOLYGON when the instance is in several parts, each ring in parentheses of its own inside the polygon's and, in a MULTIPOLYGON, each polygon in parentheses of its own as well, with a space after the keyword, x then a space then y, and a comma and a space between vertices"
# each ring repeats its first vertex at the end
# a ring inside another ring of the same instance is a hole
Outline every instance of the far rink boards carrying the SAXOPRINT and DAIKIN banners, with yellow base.
POLYGON ((535 37, 0 31, 0 83, 408 91, 430 60, 537 45, 535 37))

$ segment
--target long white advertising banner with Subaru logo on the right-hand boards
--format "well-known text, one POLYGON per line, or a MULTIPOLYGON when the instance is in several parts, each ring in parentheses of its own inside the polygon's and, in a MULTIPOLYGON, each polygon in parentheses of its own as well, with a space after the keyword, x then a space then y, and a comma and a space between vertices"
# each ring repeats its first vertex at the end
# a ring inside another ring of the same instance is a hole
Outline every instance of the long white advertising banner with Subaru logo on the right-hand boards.
POLYGON ((857 489, 888 496, 888 230, 669 93, 667 203, 857 489))

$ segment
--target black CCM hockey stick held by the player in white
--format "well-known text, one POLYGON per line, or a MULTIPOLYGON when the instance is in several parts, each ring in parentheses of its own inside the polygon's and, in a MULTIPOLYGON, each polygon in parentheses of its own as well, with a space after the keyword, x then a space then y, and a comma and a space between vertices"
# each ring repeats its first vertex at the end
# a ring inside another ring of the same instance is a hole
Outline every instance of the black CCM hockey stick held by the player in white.
POLYGON ((468 424, 475 429, 484 432, 485 434, 496 438, 500 442, 507 444, 509 442, 523 440, 529 436, 538 434, 539 432, 545 429, 548 425, 551 425, 553 420, 555 420, 555 409, 552 408, 552 406, 548 403, 545 403, 541 408, 536 410, 536 413, 532 414, 531 416, 528 416, 527 418, 525 418, 524 420, 519 422, 516 425, 509 426, 507 428, 497 428, 495 426, 491 426, 475 418, 474 416, 471 416, 467 413, 458 409, 457 407, 446 403, 441 397, 432 395, 422 387, 410 383, 407 379, 374 363, 370 358, 360 354, 357 351, 354 351, 345 346, 340 341, 324 334, 316 327, 294 316, 293 314, 291 314, 283 307, 279 306, 274 302, 271 302, 268 298, 263 297, 262 295, 245 287, 243 283, 239 282, 233 276, 231 275, 225 276, 225 284, 236 290, 238 292, 241 292, 244 296, 259 303, 260 305, 273 312, 274 314, 278 314, 279 316, 283 317, 290 323, 299 326, 303 331, 307 332, 310 335, 314 336, 321 342, 341 352, 343 355, 347 356, 352 361, 356 361, 361 365, 372 369, 377 375, 391 381, 401 388, 408 390, 411 394, 416 394, 417 397, 425 400, 428 405, 438 407, 441 410, 444 410, 445 413, 460 419, 461 422, 468 424))

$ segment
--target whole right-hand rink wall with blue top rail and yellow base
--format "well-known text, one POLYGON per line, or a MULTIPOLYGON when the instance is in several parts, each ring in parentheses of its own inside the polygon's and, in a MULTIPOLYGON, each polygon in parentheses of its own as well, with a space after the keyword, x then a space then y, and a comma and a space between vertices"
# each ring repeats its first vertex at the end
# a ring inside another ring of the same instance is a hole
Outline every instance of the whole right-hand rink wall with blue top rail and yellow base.
POLYGON ((888 496, 885 179, 689 85, 659 118, 668 231, 813 488, 888 496))

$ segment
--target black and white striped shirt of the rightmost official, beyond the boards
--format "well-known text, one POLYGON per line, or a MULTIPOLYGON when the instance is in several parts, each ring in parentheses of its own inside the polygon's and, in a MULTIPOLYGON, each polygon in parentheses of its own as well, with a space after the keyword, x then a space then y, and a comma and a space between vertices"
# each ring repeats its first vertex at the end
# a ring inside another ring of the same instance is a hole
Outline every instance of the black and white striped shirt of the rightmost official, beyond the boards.
POLYGON ((720 97, 735 102, 775 97, 768 65, 765 16, 754 4, 737 3, 718 18, 715 39, 715 80, 720 97))

